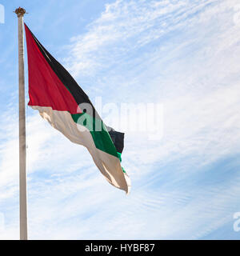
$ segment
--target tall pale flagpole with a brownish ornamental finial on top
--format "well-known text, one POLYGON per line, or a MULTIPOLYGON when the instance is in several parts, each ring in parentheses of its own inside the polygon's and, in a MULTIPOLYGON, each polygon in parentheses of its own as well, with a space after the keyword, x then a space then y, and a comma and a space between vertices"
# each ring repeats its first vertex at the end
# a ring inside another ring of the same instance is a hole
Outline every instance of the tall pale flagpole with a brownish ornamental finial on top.
POLYGON ((23 16, 26 10, 19 7, 18 15, 18 76, 19 76, 19 205, 20 205, 20 240, 27 240, 26 210, 26 116, 25 116, 25 79, 23 51, 23 16))

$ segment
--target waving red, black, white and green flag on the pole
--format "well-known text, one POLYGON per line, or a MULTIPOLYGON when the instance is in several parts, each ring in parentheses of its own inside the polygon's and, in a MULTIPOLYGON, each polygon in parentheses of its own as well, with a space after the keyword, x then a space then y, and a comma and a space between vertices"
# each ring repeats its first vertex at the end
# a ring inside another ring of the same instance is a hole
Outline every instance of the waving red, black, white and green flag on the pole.
POLYGON ((106 180, 130 191, 121 166, 124 134, 107 127, 68 71, 42 46, 25 24, 28 57, 28 103, 71 142, 86 146, 106 180))

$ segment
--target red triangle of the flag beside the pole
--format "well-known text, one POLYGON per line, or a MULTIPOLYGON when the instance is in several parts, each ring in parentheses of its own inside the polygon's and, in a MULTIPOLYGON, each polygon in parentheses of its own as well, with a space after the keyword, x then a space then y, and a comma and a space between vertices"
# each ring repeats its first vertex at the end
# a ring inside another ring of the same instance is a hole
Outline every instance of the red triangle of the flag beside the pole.
POLYGON ((70 91, 66 89, 38 49, 30 30, 25 26, 29 75, 29 106, 51 106, 53 110, 81 111, 70 91))

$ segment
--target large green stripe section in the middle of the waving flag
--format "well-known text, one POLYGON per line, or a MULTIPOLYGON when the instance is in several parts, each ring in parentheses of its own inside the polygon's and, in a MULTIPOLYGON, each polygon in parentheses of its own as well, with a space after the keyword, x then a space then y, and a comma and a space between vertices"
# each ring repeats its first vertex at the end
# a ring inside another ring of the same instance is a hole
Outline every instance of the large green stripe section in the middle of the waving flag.
POLYGON ((90 131, 90 134, 94 139, 94 144, 98 150, 102 150, 118 158, 118 152, 102 120, 93 118, 86 113, 71 114, 71 116, 74 119, 74 122, 81 126, 85 126, 90 131))

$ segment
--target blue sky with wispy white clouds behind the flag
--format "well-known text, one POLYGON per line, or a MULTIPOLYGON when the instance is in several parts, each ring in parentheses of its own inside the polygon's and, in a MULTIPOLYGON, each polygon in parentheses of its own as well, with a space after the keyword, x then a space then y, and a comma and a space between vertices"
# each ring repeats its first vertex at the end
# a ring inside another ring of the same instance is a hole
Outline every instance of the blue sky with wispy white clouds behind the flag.
MULTIPOLYGON (((29 238, 240 238, 238 0, 0 4, 0 239, 19 238, 18 6, 91 101, 101 98, 104 122, 125 132, 132 182, 127 196, 110 186, 86 148, 26 106, 29 238), (144 114, 120 118, 123 103, 144 114), (147 116, 160 132, 141 130, 147 116)), ((25 63, 27 103, 26 52, 25 63)))

